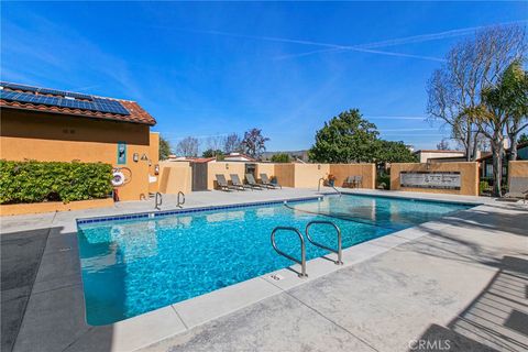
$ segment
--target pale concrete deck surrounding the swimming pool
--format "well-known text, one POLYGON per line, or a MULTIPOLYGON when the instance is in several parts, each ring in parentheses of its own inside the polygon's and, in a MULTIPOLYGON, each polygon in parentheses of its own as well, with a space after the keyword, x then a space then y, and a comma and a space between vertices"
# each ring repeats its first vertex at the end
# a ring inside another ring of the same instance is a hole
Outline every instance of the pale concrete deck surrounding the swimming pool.
MULTIPOLYGON (((528 205, 358 193, 483 205, 346 249, 342 266, 309 261, 308 278, 282 270, 105 327, 86 323, 76 219, 151 211, 152 200, 4 217, 1 350, 426 351, 414 349, 420 340, 443 351, 528 349, 528 205)), ((317 195, 195 193, 185 208, 317 195)), ((162 210, 174 209, 165 198, 162 210)))

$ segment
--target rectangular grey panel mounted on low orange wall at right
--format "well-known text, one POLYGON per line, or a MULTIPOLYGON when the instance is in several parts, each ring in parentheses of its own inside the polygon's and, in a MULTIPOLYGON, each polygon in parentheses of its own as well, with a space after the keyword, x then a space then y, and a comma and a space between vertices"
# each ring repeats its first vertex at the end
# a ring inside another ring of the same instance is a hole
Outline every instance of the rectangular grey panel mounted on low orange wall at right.
POLYGON ((460 189, 459 172, 400 172, 402 187, 460 189))

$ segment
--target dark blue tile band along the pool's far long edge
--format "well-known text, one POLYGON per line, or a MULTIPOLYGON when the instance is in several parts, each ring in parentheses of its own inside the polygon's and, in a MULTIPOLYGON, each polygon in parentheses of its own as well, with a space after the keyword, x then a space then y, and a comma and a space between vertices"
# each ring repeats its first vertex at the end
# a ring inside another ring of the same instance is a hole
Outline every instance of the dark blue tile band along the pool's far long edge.
POLYGON ((132 220, 132 219, 148 219, 148 218, 161 218, 174 215, 183 215, 190 212, 204 212, 211 210, 226 210, 226 209, 239 209, 239 208, 249 208, 255 206, 271 206, 284 202, 302 202, 302 201, 312 201, 323 198, 326 195, 318 197, 305 197, 305 198, 292 198, 292 199, 280 199, 280 200, 268 200, 268 201, 255 201, 255 202, 242 202, 235 205, 226 205, 226 206, 209 206, 209 207, 196 207, 189 209, 174 209, 174 210, 162 210, 162 211, 150 211, 150 212, 139 212, 131 215, 121 215, 121 216, 109 216, 109 217, 97 217, 97 218, 85 218, 77 219, 77 224, 85 223, 96 223, 96 222, 107 222, 116 220, 132 220))

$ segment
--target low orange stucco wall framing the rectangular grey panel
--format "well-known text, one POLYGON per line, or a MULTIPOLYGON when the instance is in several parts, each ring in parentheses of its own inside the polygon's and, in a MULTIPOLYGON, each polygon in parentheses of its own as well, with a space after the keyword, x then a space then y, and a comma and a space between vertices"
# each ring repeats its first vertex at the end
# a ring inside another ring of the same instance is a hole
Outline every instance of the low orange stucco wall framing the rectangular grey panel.
POLYGON ((408 190, 435 194, 479 196, 479 163, 393 163, 391 164, 391 190, 408 190), (460 189, 428 189, 400 187, 400 172, 459 172, 460 189))

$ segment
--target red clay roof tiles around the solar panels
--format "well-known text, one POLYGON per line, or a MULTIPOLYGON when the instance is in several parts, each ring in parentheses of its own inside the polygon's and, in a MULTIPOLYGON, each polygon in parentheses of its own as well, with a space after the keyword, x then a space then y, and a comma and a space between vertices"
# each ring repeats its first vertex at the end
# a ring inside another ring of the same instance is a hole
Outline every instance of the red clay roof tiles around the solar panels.
POLYGON ((132 123, 143 123, 148 125, 156 124, 156 120, 148 112, 143 110, 143 108, 141 108, 140 105, 135 101, 111 99, 111 98, 105 98, 105 99, 119 101, 127 110, 129 110, 130 114, 123 116, 123 114, 101 112, 101 111, 51 107, 51 106, 38 105, 38 103, 8 101, 3 99, 0 99, 0 108, 1 109, 21 109, 21 110, 48 112, 48 113, 63 113, 63 114, 69 114, 74 117, 92 118, 97 120, 114 120, 114 121, 124 121, 124 122, 132 122, 132 123))

